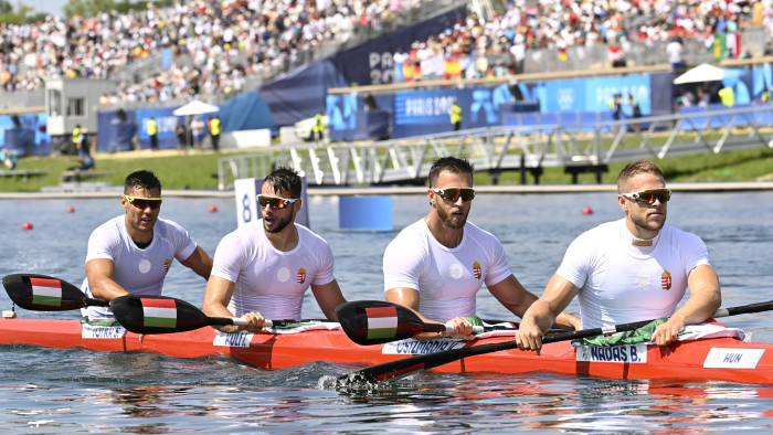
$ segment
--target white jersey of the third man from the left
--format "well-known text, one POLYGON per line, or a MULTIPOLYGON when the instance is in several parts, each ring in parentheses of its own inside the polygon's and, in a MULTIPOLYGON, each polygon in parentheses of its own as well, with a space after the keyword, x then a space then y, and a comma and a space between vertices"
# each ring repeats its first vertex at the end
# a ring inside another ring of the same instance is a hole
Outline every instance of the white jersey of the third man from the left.
POLYGON ((475 315, 480 286, 495 285, 512 273, 501 243, 467 222, 458 246, 443 246, 422 219, 398 234, 383 258, 384 289, 419 290, 419 311, 426 318, 448 321, 475 315))

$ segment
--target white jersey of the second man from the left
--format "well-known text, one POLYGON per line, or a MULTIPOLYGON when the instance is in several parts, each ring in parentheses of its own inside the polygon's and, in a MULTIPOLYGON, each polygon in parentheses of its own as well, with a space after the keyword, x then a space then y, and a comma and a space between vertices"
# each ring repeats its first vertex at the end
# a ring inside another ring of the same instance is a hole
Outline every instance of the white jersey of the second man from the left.
POLYGON ((229 304, 235 316, 261 312, 266 319, 300 319, 310 285, 333 280, 332 251, 306 226, 295 224, 298 244, 282 252, 266 238, 263 220, 225 235, 214 253, 212 275, 235 283, 229 304))

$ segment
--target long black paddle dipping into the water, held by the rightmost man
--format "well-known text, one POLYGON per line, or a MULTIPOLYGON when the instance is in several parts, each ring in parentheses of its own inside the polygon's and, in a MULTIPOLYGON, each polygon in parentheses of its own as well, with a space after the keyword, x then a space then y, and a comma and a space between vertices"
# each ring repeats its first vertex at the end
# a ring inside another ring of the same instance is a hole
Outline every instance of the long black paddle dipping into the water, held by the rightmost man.
MULTIPOLYGON (((738 307, 720 308, 714 312, 713 317, 735 316, 749 312, 769 311, 773 309, 773 300, 765 303, 742 305, 738 307)), ((579 331, 560 332, 555 335, 544 336, 543 343, 552 343, 557 341, 568 341, 579 338, 595 337, 600 335, 608 335, 614 332, 632 331, 640 328, 653 320, 634 321, 631 323, 614 325, 604 328, 582 329, 579 331)), ((351 385, 356 383, 377 383, 390 379, 404 378, 421 370, 430 370, 436 367, 447 364, 467 357, 474 357, 483 353, 496 352, 499 350, 515 349, 518 344, 516 341, 505 341, 500 343, 490 343, 474 346, 469 348, 445 350, 436 353, 420 354, 409 357, 396 361, 384 362, 369 368, 356 370, 350 373, 345 373, 338 376, 336 383, 339 386, 351 385)))

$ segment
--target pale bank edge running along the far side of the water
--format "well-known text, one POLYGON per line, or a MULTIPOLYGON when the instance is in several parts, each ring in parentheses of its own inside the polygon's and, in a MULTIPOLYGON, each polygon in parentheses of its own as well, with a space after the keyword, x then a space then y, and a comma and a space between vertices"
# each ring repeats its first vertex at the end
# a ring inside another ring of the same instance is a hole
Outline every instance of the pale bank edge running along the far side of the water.
MULTIPOLYGON (((773 190, 773 181, 728 181, 728 182, 686 182, 667 183, 676 192, 742 192, 773 190)), ((0 200, 39 200, 67 198, 112 198, 120 194, 120 187, 112 187, 107 191, 71 191, 62 192, 0 192, 0 200)), ((539 193, 594 193, 614 192, 615 184, 511 184, 511 185, 476 185, 480 193, 505 194, 539 194, 539 193)), ((308 188, 307 195, 341 197, 341 195, 398 195, 426 192, 426 187, 352 187, 352 188, 308 188)), ((179 198, 231 198, 233 190, 165 190, 165 197, 179 198)))

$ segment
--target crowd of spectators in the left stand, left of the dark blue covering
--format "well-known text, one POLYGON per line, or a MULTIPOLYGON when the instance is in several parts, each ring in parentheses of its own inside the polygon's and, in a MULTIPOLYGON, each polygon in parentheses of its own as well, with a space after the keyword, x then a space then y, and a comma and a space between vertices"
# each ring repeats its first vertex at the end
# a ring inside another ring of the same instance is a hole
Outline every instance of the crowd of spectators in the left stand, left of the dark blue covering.
POLYGON ((142 12, 103 12, 34 24, 0 24, 0 88, 35 91, 44 77, 112 78, 171 50, 172 66, 141 84, 121 83, 103 103, 166 100, 239 92, 358 26, 378 28, 419 0, 194 0, 142 12))

